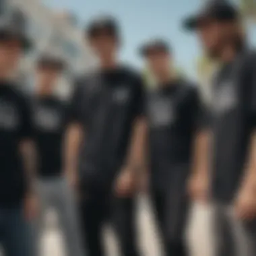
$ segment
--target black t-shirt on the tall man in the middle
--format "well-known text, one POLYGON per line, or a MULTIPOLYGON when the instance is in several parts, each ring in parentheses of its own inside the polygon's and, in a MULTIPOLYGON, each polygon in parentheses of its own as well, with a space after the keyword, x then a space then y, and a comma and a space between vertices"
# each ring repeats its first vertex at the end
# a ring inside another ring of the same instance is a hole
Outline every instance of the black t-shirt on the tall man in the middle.
POLYGON ((77 82, 71 120, 86 131, 79 158, 86 189, 110 187, 125 160, 142 104, 141 79, 127 67, 99 71, 77 82))

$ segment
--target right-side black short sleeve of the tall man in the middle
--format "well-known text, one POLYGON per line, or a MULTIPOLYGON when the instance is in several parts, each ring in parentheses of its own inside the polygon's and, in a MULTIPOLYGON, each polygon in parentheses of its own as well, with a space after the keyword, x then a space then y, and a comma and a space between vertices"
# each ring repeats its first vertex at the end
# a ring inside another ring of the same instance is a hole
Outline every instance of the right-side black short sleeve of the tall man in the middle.
POLYGON ((145 108, 145 90, 141 77, 136 78, 135 82, 135 101, 134 101, 134 116, 143 117, 145 108))

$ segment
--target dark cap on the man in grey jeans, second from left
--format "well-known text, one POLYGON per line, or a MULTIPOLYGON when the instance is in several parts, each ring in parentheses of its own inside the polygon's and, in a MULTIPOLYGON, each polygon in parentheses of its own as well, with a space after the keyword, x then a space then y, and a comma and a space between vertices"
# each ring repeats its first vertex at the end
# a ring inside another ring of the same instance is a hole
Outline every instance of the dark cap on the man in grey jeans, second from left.
POLYGON ((64 58, 55 53, 42 53, 37 59, 37 67, 47 67, 62 71, 67 68, 64 58))

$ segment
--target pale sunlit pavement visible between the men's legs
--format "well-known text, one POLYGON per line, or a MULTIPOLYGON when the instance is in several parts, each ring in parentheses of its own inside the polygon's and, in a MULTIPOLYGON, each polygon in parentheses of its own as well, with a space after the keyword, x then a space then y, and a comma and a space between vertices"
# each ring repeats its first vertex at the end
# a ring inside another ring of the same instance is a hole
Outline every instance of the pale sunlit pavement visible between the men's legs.
MULTIPOLYGON (((138 199, 137 225, 141 254, 147 256, 162 255, 158 230, 152 216, 150 202, 146 197, 138 199)), ((54 212, 46 216, 46 232, 42 238, 42 256, 65 256, 61 232, 54 212)), ((212 256, 211 239, 209 232, 210 210, 203 205, 194 205, 187 232, 191 256, 212 256)), ((104 231, 104 239, 108 255, 118 256, 115 234, 109 226, 104 231)))

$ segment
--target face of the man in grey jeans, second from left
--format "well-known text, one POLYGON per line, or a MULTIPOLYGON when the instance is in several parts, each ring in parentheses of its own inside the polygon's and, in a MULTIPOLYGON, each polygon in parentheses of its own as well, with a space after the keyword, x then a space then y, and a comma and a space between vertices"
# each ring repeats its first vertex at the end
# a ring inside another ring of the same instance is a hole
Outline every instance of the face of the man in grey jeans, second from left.
POLYGON ((38 84, 49 88, 53 88, 59 78, 59 70, 54 67, 38 67, 36 71, 36 79, 38 84))

